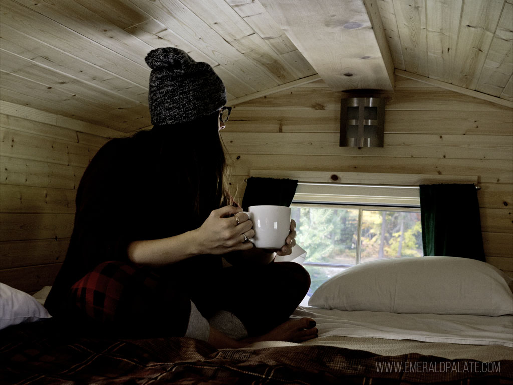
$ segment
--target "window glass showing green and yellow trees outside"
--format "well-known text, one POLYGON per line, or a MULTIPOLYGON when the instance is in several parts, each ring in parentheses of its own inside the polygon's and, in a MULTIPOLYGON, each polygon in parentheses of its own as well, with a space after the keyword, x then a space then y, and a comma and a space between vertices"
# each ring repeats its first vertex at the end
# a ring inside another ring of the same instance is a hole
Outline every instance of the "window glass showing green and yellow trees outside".
POLYGON ((306 251, 308 296, 343 269, 383 258, 423 255, 420 210, 344 205, 291 205, 306 251))

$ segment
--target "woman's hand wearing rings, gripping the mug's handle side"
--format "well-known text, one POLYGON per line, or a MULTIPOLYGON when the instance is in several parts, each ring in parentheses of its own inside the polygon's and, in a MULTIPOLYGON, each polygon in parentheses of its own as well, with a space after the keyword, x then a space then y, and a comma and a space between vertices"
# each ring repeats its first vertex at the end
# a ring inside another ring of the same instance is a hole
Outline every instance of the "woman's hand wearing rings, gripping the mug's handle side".
POLYGON ((248 250, 253 244, 253 222, 241 207, 224 206, 212 210, 201 227, 194 230, 198 254, 226 254, 248 250))

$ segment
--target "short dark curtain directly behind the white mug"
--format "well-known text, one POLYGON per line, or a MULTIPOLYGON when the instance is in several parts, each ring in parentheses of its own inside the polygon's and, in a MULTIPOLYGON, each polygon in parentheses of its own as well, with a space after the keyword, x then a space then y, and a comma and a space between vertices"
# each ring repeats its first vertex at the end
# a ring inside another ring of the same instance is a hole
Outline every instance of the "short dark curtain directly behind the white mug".
POLYGON ((298 181, 291 179, 249 178, 242 198, 242 208, 249 206, 274 204, 290 206, 298 181))

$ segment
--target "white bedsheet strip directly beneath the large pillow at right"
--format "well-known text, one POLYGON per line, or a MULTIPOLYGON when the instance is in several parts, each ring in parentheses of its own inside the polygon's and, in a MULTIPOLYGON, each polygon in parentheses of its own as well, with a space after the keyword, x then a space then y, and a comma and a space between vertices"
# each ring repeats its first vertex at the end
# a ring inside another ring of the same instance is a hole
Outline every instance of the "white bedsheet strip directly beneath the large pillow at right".
POLYGON ((513 348, 513 316, 343 312, 299 306, 292 317, 313 318, 319 329, 319 337, 409 339, 425 342, 503 345, 513 348))

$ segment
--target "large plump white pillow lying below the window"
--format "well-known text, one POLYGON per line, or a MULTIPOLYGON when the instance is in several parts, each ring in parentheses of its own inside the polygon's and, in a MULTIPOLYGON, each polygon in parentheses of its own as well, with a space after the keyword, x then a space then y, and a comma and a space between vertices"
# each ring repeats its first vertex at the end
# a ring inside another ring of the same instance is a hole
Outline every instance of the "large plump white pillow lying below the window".
POLYGON ((389 313, 513 314, 506 275, 462 257, 382 259, 347 268, 324 282, 309 306, 389 313))

